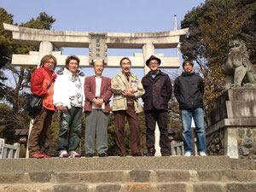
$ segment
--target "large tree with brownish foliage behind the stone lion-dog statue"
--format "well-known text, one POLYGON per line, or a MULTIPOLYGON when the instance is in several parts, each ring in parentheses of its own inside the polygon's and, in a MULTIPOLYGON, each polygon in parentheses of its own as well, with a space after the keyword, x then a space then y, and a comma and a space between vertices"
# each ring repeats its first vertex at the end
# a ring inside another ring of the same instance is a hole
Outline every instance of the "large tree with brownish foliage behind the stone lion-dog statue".
POLYGON ((244 40, 250 61, 255 60, 256 2, 247 0, 207 0, 184 16, 182 27, 189 27, 189 37, 181 46, 184 58, 196 61, 205 82, 206 113, 211 111, 213 100, 224 90, 221 71, 228 43, 244 40))

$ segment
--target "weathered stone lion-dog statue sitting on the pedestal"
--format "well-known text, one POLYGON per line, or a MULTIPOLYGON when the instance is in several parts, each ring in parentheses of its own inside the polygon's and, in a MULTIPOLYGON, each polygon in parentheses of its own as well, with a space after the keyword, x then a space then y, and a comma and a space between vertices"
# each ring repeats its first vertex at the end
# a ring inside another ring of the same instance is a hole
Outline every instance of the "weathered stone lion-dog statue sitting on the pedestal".
POLYGON ((256 68, 249 61, 246 45, 241 40, 232 40, 229 47, 230 53, 221 67, 226 75, 225 90, 241 86, 255 87, 256 68))

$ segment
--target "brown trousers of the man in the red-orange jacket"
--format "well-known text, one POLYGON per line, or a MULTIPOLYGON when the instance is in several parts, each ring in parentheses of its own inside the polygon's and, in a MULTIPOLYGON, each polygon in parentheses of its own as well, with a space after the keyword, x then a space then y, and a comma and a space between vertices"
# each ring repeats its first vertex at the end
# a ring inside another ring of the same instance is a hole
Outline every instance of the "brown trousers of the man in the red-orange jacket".
POLYGON ((44 154, 45 141, 49 136, 51 119, 54 111, 42 108, 35 114, 32 131, 28 139, 29 155, 44 154))

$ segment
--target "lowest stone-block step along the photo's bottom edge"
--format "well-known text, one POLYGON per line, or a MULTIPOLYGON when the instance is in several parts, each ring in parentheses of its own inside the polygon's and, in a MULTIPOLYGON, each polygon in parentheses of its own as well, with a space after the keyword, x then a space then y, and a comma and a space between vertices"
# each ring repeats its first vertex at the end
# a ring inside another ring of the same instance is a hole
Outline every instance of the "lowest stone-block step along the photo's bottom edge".
POLYGON ((40 183, 0 184, 2 192, 255 192, 256 183, 40 183))

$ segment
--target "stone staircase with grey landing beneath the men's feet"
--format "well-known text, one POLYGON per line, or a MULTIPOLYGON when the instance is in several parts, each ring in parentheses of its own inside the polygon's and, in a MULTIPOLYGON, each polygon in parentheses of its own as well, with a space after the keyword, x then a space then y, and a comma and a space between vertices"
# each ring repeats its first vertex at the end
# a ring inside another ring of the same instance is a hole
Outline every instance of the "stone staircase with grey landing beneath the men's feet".
POLYGON ((255 167, 226 156, 0 160, 0 191, 255 192, 255 167))

